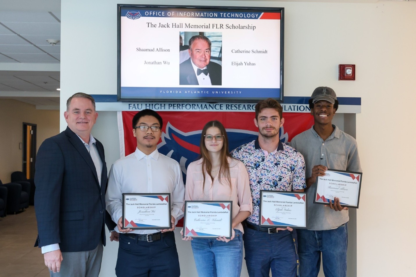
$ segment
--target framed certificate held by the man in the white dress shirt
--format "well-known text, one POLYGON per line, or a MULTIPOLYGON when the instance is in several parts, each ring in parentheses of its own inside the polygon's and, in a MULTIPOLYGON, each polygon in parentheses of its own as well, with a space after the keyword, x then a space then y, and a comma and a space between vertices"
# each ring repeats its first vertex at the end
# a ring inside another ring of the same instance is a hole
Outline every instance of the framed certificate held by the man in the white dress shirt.
POLYGON ((123 229, 170 229, 170 193, 123 193, 123 229))

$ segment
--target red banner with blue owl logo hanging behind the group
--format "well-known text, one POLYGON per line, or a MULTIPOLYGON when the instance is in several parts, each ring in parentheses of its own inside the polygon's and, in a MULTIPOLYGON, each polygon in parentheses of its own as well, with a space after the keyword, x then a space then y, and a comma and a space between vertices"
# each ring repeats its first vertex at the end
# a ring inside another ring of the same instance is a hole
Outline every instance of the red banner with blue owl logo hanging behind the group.
MULTIPOLYGON (((124 141, 120 141, 120 143, 124 143, 122 156, 127 156, 136 149, 136 138, 133 136, 131 122, 136 113, 136 111, 121 112, 124 130, 124 141)), ((198 154, 201 130, 211 120, 220 121, 227 129, 230 151, 237 146, 253 141, 258 136, 258 128, 254 125, 255 114, 250 112, 159 111, 158 114, 163 119, 162 138, 158 148, 161 153, 165 152, 163 153, 165 155, 172 150, 175 152, 184 149, 198 154)), ((282 142, 290 141, 294 136, 313 125, 313 117, 309 113, 283 113, 283 117, 285 123, 280 129, 282 142)), ((175 158, 174 156, 172 158, 175 158)), ((180 159, 177 161, 180 162, 180 159)))

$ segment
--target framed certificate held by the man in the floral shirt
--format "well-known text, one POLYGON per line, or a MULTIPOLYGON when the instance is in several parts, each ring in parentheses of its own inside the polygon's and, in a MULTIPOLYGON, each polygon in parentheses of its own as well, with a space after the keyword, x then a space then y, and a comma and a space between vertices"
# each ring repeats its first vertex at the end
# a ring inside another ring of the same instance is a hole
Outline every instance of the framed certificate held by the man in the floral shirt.
POLYGON ((306 229, 306 193, 260 190, 259 226, 306 229))

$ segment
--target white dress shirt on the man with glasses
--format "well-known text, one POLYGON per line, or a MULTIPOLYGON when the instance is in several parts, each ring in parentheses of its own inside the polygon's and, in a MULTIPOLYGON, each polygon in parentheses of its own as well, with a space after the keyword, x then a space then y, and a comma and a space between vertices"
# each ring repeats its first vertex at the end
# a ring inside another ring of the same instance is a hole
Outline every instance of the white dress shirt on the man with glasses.
MULTIPOLYGON (((123 214, 123 193, 171 193, 171 215, 175 225, 183 217, 185 186, 179 163, 159 153, 146 155, 136 148, 134 153, 116 161, 110 169, 106 193, 106 209, 115 223, 123 214)), ((117 226, 114 228, 119 232, 117 226)), ((150 234, 160 230, 133 230, 150 234)))

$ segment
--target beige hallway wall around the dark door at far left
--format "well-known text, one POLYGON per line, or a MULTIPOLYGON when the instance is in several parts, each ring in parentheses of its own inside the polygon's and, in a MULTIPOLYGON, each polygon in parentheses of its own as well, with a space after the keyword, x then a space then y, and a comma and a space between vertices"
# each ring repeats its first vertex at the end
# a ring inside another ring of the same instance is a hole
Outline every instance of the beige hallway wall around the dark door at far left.
POLYGON ((59 111, 37 110, 34 105, 0 99, 0 179, 10 182, 13 171, 22 171, 23 122, 37 125, 36 150, 45 138, 59 133, 59 111))

